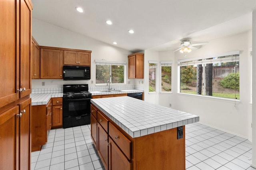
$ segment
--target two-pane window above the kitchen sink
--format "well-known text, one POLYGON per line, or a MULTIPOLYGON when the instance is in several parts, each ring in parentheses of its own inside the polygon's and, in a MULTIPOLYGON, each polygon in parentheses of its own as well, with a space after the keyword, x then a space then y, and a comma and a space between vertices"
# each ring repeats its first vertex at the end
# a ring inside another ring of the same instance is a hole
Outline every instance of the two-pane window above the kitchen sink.
POLYGON ((124 84, 126 62, 96 61, 96 84, 124 84))

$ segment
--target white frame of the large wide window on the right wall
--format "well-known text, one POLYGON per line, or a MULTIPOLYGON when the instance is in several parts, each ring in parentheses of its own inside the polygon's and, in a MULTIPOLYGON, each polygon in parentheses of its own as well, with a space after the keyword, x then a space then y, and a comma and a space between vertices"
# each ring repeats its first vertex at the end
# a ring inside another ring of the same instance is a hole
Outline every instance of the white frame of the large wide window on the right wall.
MULTIPOLYGON (((240 99, 235 99, 235 98, 224 98, 224 97, 217 97, 217 96, 208 96, 205 94, 206 92, 206 83, 205 83, 205 68, 206 68, 206 64, 209 63, 216 63, 216 62, 220 62, 220 63, 224 63, 224 62, 234 62, 234 61, 238 61, 239 65, 240 65, 240 51, 231 51, 231 52, 227 52, 227 53, 222 53, 222 54, 216 54, 216 55, 208 55, 205 57, 198 57, 198 58, 191 58, 191 59, 184 59, 184 60, 178 60, 177 64, 178 64, 178 94, 184 94, 184 95, 192 95, 192 96, 198 96, 198 97, 207 97, 207 98, 216 98, 216 99, 224 99, 224 100, 235 100, 235 101, 240 101, 240 99), (224 57, 224 56, 229 56, 229 55, 237 55, 235 57, 224 57), (214 59, 217 57, 224 57, 224 58, 218 58, 218 59, 214 59), (213 59, 211 59, 213 58, 213 59), (203 73, 202 74, 202 80, 203 82, 203 86, 202 86, 202 94, 189 94, 189 93, 184 93, 181 92, 180 89, 180 67, 181 66, 189 66, 189 65, 197 65, 197 64, 202 64, 202 69, 203 69, 203 73)), ((240 83, 240 82, 239 82, 240 83)), ((238 93, 240 94, 240 92, 238 93)))

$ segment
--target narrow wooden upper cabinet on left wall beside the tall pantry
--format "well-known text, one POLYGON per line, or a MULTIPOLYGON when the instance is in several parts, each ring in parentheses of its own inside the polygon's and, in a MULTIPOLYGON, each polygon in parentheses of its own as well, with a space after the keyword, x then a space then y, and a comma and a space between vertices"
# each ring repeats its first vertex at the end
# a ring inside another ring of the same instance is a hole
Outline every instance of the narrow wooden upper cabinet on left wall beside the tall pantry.
POLYGON ((31 71, 32 79, 40 78, 40 48, 36 40, 32 37, 31 43, 31 71))

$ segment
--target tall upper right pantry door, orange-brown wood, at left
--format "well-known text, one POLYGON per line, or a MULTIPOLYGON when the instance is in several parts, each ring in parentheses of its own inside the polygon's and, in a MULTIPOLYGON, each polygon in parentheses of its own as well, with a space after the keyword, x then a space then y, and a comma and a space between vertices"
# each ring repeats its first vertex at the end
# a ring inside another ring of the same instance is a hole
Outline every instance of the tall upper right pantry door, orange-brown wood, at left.
POLYGON ((20 0, 20 98, 31 93, 31 19, 32 8, 28 0, 20 0), (25 90, 26 89, 26 90, 25 90))

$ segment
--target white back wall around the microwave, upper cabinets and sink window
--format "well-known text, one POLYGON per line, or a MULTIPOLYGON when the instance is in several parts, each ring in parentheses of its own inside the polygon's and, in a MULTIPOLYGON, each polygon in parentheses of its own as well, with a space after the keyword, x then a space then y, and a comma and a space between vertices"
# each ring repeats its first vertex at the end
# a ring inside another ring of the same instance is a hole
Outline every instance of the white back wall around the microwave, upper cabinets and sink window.
MULTIPOLYGON (((86 81, 64 81, 54 79, 33 79, 32 88, 62 87, 62 84, 89 84, 89 87, 95 86, 96 82, 96 64, 95 59, 105 59, 110 61, 126 61, 126 83, 128 82, 128 55, 130 51, 97 41, 90 37, 74 33, 67 29, 51 25, 49 23, 32 18, 32 35, 41 46, 61 47, 70 49, 91 50, 91 80, 86 81), (45 86, 42 86, 45 82, 45 86)), ((134 85, 134 80, 130 79, 130 85, 134 85)))

